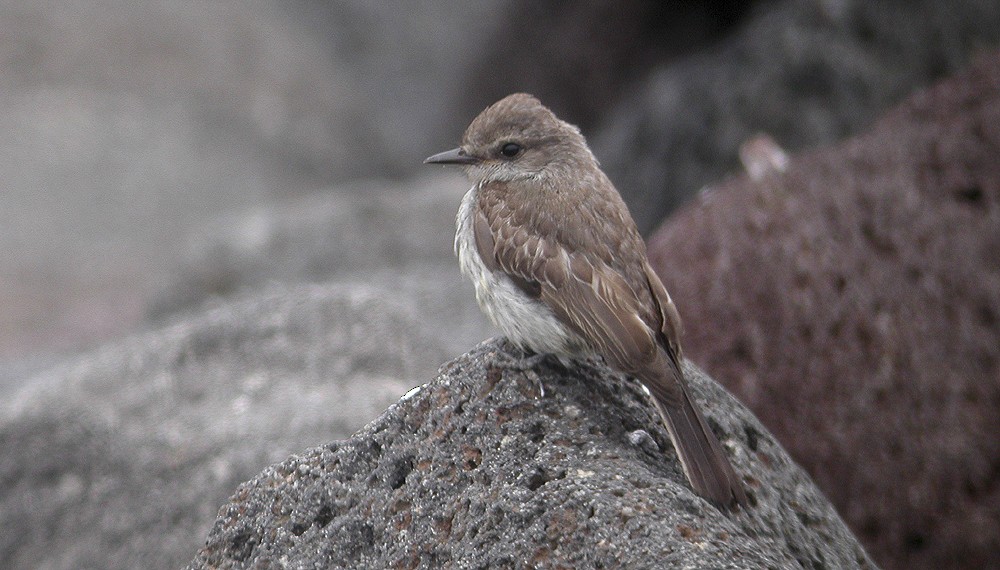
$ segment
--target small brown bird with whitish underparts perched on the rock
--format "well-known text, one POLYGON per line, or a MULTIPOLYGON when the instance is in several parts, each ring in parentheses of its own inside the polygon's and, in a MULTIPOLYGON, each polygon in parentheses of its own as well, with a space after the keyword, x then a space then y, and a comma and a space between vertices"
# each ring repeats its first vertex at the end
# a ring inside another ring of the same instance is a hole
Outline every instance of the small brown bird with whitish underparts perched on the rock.
POLYGON ((638 378, 694 490, 723 508, 746 505, 684 380, 677 309, 580 130, 517 93, 480 113, 462 146, 424 162, 462 165, 473 182, 455 252, 490 320, 536 353, 596 354, 638 378))

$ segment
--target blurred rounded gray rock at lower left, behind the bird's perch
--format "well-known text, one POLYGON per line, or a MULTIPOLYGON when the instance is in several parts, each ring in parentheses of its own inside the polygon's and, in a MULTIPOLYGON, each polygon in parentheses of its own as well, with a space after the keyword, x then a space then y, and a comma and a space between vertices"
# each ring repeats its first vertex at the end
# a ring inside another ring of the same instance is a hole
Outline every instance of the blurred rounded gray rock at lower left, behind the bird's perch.
POLYGON ((240 481, 347 437, 447 352, 412 303, 299 286, 51 368, 0 403, 0 560, 177 568, 240 481))

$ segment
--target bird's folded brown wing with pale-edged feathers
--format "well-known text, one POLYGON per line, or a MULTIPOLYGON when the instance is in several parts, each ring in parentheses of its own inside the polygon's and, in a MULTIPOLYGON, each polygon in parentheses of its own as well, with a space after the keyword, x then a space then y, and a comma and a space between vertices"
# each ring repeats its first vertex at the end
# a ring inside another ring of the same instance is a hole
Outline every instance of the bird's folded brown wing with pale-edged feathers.
POLYGON ((480 257, 543 301, 611 364, 625 372, 644 371, 657 359, 664 313, 651 310, 658 291, 651 290, 651 272, 643 272, 641 238, 596 235, 599 223, 585 224, 578 234, 560 233, 566 224, 539 210, 532 212, 533 223, 525 223, 528 214, 509 206, 515 186, 480 187, 474 218, 480 257))

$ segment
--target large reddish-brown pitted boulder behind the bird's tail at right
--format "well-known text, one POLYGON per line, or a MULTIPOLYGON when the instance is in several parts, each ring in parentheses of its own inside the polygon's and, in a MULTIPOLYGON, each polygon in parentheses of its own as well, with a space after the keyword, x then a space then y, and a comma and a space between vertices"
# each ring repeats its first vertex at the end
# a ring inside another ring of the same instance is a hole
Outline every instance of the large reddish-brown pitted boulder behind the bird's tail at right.
POLYGON ((885 568, 1000 567, 1000 54, 661 228, 688 355, 885 568))

